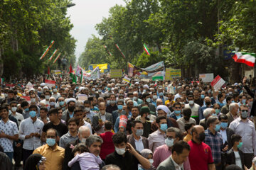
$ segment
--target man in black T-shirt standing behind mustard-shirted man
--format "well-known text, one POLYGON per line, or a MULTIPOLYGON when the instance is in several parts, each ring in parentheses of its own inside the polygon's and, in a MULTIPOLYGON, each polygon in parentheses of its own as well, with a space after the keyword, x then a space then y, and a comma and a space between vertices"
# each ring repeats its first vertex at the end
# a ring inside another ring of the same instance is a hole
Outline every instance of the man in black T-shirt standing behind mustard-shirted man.
POLYGON ((48 112, 50 122, 46 123, 43 126, 43 132, 41 135, 41 141, 46 142, 46 131, 50 128, 57 130, 57 138, 56 142, 60 141, 60 137, 65 135, 68 132, 68 127, 61 123, 60 119, 58 118, 58 108, 51 108, 48 112))

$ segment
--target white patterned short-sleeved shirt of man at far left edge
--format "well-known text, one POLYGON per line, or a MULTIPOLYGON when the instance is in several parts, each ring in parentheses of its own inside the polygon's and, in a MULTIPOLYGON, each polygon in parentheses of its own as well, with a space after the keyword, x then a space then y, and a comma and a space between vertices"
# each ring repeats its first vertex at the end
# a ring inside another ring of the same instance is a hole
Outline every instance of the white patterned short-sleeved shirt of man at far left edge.
MULTIPOLYGON (((0 132, 1 131, 10 136, 18 135, 18 127, 16 123, 11 120, 7 120, 6 123, 4 123, 3 120, 0 120, 0 132)), ((13 140, 9 140, 6 137, 1 137, 0 145, 4 148, 4 152, 14 152, 13 140)))

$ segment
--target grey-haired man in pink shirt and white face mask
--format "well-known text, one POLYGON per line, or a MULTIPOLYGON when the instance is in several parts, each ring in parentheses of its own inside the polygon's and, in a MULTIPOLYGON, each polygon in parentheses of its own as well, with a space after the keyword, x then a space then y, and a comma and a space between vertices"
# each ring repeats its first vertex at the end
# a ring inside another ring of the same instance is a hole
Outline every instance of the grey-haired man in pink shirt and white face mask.
MULTIPOLYGON (((161 162, 164 162, 165 159, 171 156, 171 149, 173 149, 174 144, 180 140, 183 140, 181 130, 178 128, 168 128, 166 130, 166 139, 165 144, 161 145, 160 147, 156 147, 153 159, 154 163, 153 165, 155 167, 158 167, 161 162)), ((190 170, 190 165, 188 159, 184 163, 184 170, 190 170)))

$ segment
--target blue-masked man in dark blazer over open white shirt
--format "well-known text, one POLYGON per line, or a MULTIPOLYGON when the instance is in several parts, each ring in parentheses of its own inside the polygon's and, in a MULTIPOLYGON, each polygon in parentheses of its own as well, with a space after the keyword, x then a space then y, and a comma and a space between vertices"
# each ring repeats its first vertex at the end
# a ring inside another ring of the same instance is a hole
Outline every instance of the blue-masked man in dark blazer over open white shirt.
POLYGON ((143 137, 143 124, 139 120, 132 122, 132 135, 127 136, 128 142, 136 149, 141 152, 142 149, 149 149, 149 140, 143 137))

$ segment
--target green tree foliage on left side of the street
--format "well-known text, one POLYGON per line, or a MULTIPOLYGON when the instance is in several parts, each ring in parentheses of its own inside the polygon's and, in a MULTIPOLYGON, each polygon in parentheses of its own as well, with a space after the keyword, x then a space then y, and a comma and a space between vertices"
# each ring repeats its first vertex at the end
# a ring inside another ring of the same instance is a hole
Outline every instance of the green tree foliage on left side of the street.
POLYGON ((4 60, 0 71, 4 69, 6 78, 9 75, 31 77, 43 73, 48 65, 55 67, 54 59, 51 63, 47 61, 55 49, 69 62, 75 62, 75 39, 70 35, 73 25, 65 17, 67 4, 66 0, 0 1, 0 58, 4 60), (51 40, 55 44, 43 61, 39 61, 51 40))

